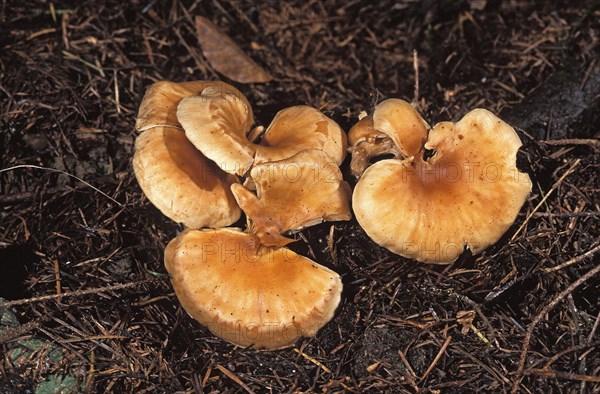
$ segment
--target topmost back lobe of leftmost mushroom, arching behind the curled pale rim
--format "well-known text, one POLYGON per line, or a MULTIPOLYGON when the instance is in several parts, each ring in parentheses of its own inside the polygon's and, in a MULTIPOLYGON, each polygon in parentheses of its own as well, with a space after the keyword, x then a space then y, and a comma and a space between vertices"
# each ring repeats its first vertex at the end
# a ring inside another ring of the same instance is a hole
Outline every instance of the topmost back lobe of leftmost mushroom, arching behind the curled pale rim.
POLYGON ((222 95, 233 94, 238 97, 249 108, 249 117, 252 119, 252 109, 248 100, 229 84, 220 81, 159 81, 152 84, 144 94, 135 123, 136 130, 144 131, 156 126, 181 128, 177 120, 179 102, 184 97, 198 96, 209 87, 221 92, 222 95))

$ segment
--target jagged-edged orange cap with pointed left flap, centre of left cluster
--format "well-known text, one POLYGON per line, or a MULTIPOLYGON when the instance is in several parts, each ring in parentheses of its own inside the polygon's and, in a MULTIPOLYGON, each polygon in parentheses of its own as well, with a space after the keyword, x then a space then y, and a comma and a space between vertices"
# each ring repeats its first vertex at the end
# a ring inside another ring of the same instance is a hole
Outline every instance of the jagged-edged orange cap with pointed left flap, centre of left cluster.
POLYGON ((285 160, 255 164, 250 177, 256 195, 239 184, 231 190, 263 245, 283 246, 290 240, 281 233, 352 217, 350 187, 323 151, 309 149, 285 160))

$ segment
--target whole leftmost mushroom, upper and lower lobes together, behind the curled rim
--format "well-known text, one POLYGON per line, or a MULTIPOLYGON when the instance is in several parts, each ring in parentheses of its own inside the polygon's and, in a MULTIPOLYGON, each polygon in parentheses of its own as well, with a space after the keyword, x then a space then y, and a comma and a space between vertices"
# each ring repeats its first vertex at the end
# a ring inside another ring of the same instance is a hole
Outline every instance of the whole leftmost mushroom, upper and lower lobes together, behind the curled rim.
POLYGON ((247 103, 223 82, 161 81, 146 91, 136 120, 142 133, 135 142, 133 170, 140 187, 163 214, 192 228, 227 226, 241 214, 230 190, 236 178, 194 148, 177 120, 179 102, 207 89, 247 103))

